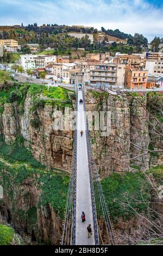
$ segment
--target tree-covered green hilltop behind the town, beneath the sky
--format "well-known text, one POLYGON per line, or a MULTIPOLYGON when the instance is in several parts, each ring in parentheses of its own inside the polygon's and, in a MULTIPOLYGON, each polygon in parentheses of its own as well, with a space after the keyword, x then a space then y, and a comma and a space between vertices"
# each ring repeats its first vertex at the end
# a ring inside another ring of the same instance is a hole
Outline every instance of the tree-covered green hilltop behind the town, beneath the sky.
MULTIPOLYGON (((102 27, 102 32, 104 33, 104 40, 99 42, 97 40, 97 29, 92 28, 77 28, 77 27, 68 27, 68 26, 58 26, 54 25, 43 25, 37 26, 36 23, 34 25, 28 25, 26 27, 20 27, 16 29, 10 29, 10 31, 3 31, 0 35, 0 39, 15 39, 18 41, 18 44, 23 45, 21 52, 22 53, 30 53, 30 49, 26 44, 39 44, 39 50, 42 53, 48 54, 68 54, 71 57, 71 52, 77 48, 85 48, 85 51, 88 52, 107 52, 110 51, 115 53, 120 51, 121 53, 133 53, 133 52, 141 52, 142 46, 148 46, 148 40, 141 34, 135 33, 134 36, 130 34, 123 33, 118 29, 113 31, 112 29, 104 29, 102 27), (93 34, 93 44, 88 36, 84 36, 81 39, 74 38, 73 36, 68 35, 70 32, 76 33, 87 33, 93 34), (127 39, 128 45, 125 44, 113 44, 108 45, 107 35, 114 36, 119 39, 127 39), (44 51, 47 47, 51 47, 54 50, 44 51)), ((17 58, 15 54, 4 55, 4 62, 9 63, 9 59, 12 62, 13 58, 17 58)), ((16 59, 17 60, 17 59, 16 59)))

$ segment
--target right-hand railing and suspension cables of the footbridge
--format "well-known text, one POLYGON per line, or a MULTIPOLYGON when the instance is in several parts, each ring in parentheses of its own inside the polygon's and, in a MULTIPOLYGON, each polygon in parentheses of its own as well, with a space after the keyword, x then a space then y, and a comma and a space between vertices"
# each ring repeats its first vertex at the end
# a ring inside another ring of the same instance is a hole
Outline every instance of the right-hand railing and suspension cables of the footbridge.
POLYGON ((83 106, 86 121, 86 140, 87 153, 89 159, 90 185, 92 194, 92 210, 95 229, 96 244, 114 245, 117 242, 114 227, 111 223, 108 206, 102 190, 101 181, 99 179, 98 170, 96 168, 93 150, 90 142, 90 131, 86 120, 85 92, 83 87, 83 106))

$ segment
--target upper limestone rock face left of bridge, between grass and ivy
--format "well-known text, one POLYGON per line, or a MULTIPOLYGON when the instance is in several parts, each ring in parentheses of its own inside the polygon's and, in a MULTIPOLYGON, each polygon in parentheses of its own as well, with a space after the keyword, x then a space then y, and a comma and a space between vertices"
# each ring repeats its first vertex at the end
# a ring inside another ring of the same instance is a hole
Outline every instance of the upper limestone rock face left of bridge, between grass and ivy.
POLYGON ((55 108, 45 106, 31 111, 32 99, 28 96, 24 102, 23 113, 16 103, 5 104, 0 116, 0 132, 5 142, 10 144, 17 135, 26 140, 25 145, 32 149, 35 159, 48 168, 57 167, 71 170, 73 152, 73 131, 57 131, 53 127, 55 108), (39 127, 32 121, 39 120, 39 127))

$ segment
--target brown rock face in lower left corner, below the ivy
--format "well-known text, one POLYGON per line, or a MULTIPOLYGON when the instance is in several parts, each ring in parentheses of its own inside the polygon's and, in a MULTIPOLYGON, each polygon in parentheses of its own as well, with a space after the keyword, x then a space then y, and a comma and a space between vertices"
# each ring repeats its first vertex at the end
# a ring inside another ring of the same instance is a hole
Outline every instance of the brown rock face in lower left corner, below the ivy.
POLYGON ((0 223, 2 218, 11 223, 16 233, 20 234, 27 244, 59 244, 62 220, 50 205, 38 206, 41 188, 35 181, 35 175, 24 180, 21 185, 13 184, 13 188, 12 200, 4 193, 0 206, 0 223), (31 209, 35 209, 35 214, 31 209))

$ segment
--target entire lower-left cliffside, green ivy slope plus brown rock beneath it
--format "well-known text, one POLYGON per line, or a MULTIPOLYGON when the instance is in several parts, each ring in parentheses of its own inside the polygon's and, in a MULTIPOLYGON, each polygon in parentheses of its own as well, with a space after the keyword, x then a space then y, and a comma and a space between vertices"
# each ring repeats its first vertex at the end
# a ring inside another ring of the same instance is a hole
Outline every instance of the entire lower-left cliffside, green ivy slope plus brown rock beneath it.
POLYGON ((32 241, 57 243, 64 218, 67 173, 54 168, 46 170, 23 147, 20 137, 7 145, 1 135, 0 149, 3 217, 11 221, 18 233, 29 234, 32 241))

